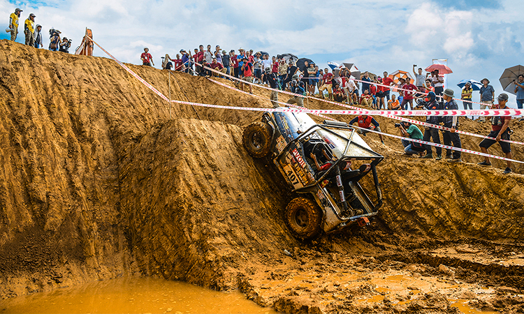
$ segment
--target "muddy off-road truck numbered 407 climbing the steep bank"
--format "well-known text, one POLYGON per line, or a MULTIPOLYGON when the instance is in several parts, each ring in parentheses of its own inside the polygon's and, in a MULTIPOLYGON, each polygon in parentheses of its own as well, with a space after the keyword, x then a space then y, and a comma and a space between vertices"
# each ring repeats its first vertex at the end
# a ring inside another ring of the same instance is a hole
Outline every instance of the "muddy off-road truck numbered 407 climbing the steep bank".
POLYGON ((252 157, 270 158, 293 191, 305 194, 291 200, 284 213, 298 239, 351 223, 369 225, 377 215, 382 193, 376 166, 384 157, 352 126, 327 120, 316 124, 304 112, 265 112, 262 121, 245 128, 242 142, 252 157), (358 183, 368 172, 376 204, 358 183))

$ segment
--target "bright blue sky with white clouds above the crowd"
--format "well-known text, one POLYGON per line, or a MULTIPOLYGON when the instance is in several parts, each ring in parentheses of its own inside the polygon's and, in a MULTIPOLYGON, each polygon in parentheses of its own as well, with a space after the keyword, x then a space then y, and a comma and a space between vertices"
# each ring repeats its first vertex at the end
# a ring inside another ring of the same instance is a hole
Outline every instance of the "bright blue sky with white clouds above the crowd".
MULTIPOLYGON (((5 27, 17 7, 24 10, 18 42, 23 21, 34 13, 46 34, 59 29, 73 39, 73 48, 89 27, 94 40, 121 61, 139 64, 149 47, 157 68, 164 54, 174 58, 200 44, 293 53, 322 68, 328 61, 352 62, 373 73, 448 59, 448 82, 457 95, 460 80, 483 77, 499 94, 504 68, 524 63, 518 57, 524 55, 520 0, 0 0, 5 27)), ((0 39, 7 36, 2 31, 0 39)), ((98 48, 94 54, 105 57, 98 48)), ((514 99, 510 107, 516 107, 514 99)))

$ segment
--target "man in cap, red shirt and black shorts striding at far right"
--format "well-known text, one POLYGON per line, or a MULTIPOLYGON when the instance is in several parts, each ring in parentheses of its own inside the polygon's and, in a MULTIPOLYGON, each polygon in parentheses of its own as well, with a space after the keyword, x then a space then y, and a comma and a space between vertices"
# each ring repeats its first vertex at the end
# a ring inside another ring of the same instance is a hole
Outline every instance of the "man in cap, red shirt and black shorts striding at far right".
MULTIPOLYGON (((506 109, 506 103, 508 102, 508 95, 505 93, 500 94, 497 97, 497 100, 499 103, 497 105, 493 105, 493 109, 506 109)), ((491 145, 495 144, 495 142, 499 142, 500 148, 502 148, 502 152, 506 154, 506 158, 513 158, 511 157, 511 147, 509 146, 508 142, 501 142, 500 140, 508 140, 509 141, 509 121, 511 120, 511 117, 491 117, 491 129, 492 131, 488 134, 488 137, 492 137, 495 140, 490 140, 485 138, 480 142, 479 146, 481 148, 481 151, 484 154, 488 154, 488 148, 491 147, 491 145)), ((484 166, 484 167, 491 167, 490 158, 484 156, 484 161, 481 163, 478 163, 478 165, 484 166)), ((507 167, 503 174, 509 174, 511 172, 511 160, 507 160, 507 167)))

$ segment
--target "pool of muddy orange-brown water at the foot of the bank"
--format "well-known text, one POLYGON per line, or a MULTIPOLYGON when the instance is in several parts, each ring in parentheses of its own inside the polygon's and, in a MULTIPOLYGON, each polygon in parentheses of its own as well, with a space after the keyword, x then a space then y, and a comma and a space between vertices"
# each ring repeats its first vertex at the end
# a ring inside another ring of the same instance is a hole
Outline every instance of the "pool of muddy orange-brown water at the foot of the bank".
POLYGON ((0 300, 0 313, 254 313, 277 314, 241 292, 129 277, 0 300))

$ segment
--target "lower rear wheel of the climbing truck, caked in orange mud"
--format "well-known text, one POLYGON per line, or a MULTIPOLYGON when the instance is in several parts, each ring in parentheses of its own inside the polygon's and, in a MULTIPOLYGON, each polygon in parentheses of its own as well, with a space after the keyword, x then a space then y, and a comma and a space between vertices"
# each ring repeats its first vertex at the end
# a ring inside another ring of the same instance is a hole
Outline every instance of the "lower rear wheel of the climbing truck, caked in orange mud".
POLYGON ((287 205, 284 220, 295 237, 308 240, 321 232, 322 211, 311 200, 297 197, 287 205))

